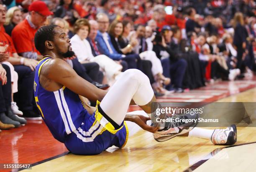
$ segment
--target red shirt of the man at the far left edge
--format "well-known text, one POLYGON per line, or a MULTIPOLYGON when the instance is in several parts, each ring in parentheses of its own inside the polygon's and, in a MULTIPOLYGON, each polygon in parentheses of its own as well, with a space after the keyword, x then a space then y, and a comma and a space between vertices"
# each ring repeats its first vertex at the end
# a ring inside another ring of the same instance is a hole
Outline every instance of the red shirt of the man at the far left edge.
POLYGON ((5 32, 5 28, 3 26, 0 27, 0 42, 3 43, 1 46, 9 45, 6 52, 10 53, 10 56, 13 56, 13 53, 16 52, 15 47, 13 45, 12 38, 5 32))

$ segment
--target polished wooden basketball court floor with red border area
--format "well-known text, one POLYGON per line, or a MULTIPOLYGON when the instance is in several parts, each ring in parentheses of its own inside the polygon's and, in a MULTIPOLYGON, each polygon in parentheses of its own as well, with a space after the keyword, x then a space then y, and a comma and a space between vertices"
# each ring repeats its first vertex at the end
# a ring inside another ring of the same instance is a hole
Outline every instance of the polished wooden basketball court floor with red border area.
MULTIPOLYGON (((221 82, 159 100, 256 102, 255 86, 255 81, 221 82)), ((43 122, 30 121, 20 129, 0 133, 0 161, 32 164, 32 170, 20 169, 28 172, 253 172, 256 171, 255 131, 256 128, 249 125, 238 127, 237 143, 225 147, 192 137, 156 142, 151 133, 141 130, 129 138, 122 149, 111 147, 100 155, 81 156, 69 153, 64 144, 54 140, 43 122)))

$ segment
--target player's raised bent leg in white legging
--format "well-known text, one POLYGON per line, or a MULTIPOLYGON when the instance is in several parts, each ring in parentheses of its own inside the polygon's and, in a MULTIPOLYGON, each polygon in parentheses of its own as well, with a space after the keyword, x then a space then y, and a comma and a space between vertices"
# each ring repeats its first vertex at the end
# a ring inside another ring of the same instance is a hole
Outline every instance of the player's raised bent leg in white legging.
POLYGON ((100 108, 118 125, 121 125, 131 100, 151 113, 154 91, 148 77, 136 69, 126 70, 110 88, 100 103, 100 108))

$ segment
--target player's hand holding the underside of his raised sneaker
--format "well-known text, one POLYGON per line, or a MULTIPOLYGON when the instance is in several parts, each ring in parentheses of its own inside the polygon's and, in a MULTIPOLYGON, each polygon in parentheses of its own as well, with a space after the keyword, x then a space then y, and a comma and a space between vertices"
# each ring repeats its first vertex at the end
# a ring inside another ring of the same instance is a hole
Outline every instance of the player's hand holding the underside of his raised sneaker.
POLYGON ((147 125, 147 121, 151 120, 150 117, 145 117, 143 115, 133 115, 133 122, 135 122, 138 126, 140 126, 143 130, 148 132, 155 133, 159 130, 159 125, 156 126, 149 126, 147 125))

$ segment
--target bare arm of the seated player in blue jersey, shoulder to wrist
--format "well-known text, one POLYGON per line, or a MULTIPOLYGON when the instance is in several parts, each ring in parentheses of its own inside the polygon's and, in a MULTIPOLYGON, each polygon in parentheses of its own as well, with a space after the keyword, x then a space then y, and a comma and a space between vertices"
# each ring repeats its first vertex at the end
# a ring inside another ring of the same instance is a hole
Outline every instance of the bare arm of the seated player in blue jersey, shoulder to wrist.
POLYGON ((48 91, 56 91, 65 86, 89 100, 101 101, 107 91, 100 90, 82 77, 61 59, 49 60, 40 73, 40 83, 48 91))

